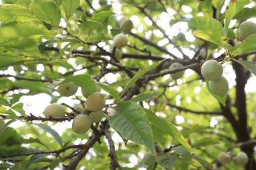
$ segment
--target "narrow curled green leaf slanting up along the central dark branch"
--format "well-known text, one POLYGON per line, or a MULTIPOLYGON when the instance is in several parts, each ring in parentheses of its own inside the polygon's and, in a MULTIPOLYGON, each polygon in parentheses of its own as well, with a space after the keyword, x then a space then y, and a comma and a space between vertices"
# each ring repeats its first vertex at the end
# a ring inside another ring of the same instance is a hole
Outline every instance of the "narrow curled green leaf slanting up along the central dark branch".
POLYGON ((129 87, 131 87, 138 79, 140 79, 143 75, 145 75, 149 71, 152 71, 152 69, 155 69, 156 67, 158 67, 158 65, 160 65, 160 63, 163 61, 164 60, 155 62, 153 65, 150 65, 148 67, 143 68, 142 70, 137 71, 137 73, 133 76, 133 78, 131 78, 130 81, 128 81, 127 85, 125 85, 125 88, 123 89, 123 91, 122 91, 121 95, 119 96, 119 99, 117 99, 117 101, 119 101, 121 99, 121 97, 123 97, 123 95, 129 89, 129 87))

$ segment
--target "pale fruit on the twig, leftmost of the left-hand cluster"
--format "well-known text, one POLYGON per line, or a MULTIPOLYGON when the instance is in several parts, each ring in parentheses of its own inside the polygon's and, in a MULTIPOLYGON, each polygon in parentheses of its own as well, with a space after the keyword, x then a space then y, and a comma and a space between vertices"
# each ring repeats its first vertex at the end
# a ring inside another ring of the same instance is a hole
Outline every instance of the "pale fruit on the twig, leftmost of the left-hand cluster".
POLYGON ((53 118, 63 118, 65 116, 65 109, 60 104, 52 103, 44 109, 42 114, 44 114, 45 118, 50 116, 53 118))

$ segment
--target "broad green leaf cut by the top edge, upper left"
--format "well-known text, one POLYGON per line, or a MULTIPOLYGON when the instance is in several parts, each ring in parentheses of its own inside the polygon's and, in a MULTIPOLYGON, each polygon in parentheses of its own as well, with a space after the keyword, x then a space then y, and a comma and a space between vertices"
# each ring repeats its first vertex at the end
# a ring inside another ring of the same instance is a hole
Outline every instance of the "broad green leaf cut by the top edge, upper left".
POLYGON ((59 7, 51 0, 34 0, 31 9, 33 15, 55 27, 59 27, 61 22, 61 11, 59 7))

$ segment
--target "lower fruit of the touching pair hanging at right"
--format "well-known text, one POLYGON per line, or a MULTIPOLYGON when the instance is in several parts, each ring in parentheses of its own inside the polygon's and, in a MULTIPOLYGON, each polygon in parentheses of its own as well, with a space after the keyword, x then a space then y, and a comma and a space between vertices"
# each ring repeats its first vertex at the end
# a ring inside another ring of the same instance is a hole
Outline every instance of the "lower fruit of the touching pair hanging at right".
POLYGON ((221 97, 228 93, 228 81, 223 76, 216 81, 209 81, 209 87, 212 92, 221 97))

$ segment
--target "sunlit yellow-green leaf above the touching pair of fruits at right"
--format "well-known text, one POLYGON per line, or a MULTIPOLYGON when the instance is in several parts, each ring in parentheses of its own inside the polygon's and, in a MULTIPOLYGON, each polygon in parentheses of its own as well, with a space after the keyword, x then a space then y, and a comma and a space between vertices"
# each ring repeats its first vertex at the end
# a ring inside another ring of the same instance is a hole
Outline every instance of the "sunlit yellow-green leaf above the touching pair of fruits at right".
POLYGON ((193 34, 220 46, 222 44, 222 24, 214 18, 193 17, 189 20, 193 34))

